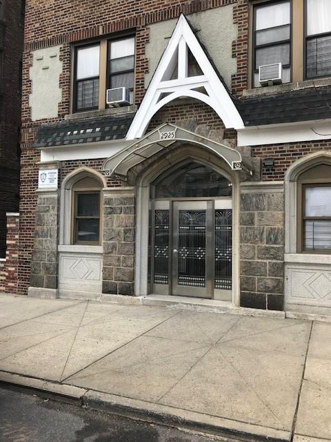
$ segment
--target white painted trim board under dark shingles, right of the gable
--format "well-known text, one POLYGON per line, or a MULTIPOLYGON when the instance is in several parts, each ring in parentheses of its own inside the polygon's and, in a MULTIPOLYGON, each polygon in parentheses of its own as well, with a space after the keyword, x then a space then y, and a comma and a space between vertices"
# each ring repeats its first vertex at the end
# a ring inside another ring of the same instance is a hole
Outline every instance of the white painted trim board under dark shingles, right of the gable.
MULTIPOLYGON (((239 128, 238 146, 331 140, 331 119, 239 128), (314 129, 314 130, 313 130, 314 129), (319 135, 321 134, 321 135, 319 135)), ((272 153, 270 153, 272 156, 272 153)))

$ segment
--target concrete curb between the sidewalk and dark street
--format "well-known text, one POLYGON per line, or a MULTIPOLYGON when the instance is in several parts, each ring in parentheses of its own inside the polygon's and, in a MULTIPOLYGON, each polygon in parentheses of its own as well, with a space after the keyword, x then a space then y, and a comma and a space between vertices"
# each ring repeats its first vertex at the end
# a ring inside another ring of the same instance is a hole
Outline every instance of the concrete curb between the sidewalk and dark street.
POLYGON ((138 399, 87 390, 81 387, 74 387, 73 385, 43 381, 42 379, 30 378, 19 374, 0 371, 1 383, 41 392, 41 394, 75 403, 76 405, 79 404, 79 406, 90 410, 117 414, 171 427, 196 430, 241 441, 290 442, 292 439, 292 432, 285 430, 232 421, 217 416, 169 407, 168 405, 159 405, 138 399))

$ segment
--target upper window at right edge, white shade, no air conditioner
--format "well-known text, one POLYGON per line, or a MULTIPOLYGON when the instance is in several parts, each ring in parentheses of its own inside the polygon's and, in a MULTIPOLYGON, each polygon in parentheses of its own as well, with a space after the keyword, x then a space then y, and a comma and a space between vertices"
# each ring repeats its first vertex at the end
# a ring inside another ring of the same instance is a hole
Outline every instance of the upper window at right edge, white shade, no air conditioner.
POLYGON ((331 1, 307 0, 305 77, 331 75, 331 1))

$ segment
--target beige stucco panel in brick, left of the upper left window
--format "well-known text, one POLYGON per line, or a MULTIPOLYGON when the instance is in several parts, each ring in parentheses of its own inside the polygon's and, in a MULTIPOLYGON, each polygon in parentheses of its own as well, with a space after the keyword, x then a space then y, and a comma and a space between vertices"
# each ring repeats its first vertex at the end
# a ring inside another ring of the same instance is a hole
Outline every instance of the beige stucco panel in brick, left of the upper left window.
POLYGON ((58 116, 59 102, 62 99, 60 48, 61 46, 52 46, 32 51, 33 61, 30 68, 32 91, 29 104, 33 122, 37 119, 58 116))

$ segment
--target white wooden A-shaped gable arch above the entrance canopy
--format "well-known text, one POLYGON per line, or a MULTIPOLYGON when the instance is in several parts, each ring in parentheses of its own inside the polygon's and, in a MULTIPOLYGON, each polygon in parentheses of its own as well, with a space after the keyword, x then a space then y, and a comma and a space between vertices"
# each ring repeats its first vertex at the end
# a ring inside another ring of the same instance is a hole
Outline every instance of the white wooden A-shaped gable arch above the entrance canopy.
POLYGON ((243 120, 228 91, 183 15, 179 17, 159 65, 146 90, 127 134, 127 140, 140 138, 153 115, 179 97, 192 97, 208 104, 219 115, 225 128, 243 128, 243 120), (188 76, 188 52, 191 51, 202 75, 188 76), (170 79, 177 67, 177 79, 170 79), (201 93, 204 88, 206 93, 201 93), (199 90, 200 89, 200 90, 199 90))

